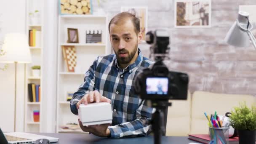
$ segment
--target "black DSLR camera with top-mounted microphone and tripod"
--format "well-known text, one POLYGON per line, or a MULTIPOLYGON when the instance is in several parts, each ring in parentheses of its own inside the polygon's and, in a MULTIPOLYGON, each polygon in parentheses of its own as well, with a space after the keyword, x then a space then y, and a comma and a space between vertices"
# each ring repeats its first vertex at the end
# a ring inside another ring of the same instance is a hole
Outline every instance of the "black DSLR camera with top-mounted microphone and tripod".
POLYGON ((169 34, 165 30, 147 32, 146 42, 151 44, 149 58, 155 63, 143 69, 135 78, 135 92, 146 104, 155 108, 152 115, 154 143, 161 144, 165 136, 169 99, 187 99, 189 77, 182 72, 169 71, 163 60, 169 59, 169 34))

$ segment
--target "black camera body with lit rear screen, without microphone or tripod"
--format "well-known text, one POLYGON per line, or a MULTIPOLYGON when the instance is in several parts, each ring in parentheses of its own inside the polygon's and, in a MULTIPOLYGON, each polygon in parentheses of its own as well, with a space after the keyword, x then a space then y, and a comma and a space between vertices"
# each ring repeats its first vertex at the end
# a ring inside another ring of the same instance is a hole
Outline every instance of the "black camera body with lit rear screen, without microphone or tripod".
POLYGON ((135 90, 141 99, 153 101, 186 100, 188 82, 187 74, 170 72, 162 61, 157 61, 152 68, 144 69, 137 76, 135 90))

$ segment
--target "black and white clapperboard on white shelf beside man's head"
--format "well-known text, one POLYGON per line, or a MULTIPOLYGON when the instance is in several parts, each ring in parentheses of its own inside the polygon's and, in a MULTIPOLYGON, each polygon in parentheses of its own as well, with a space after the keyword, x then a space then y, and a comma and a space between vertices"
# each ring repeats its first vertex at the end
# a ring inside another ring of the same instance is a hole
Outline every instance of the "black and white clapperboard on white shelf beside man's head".
POLYGON ((101 43, 102 30, 87 30, 86 43, 101 43))

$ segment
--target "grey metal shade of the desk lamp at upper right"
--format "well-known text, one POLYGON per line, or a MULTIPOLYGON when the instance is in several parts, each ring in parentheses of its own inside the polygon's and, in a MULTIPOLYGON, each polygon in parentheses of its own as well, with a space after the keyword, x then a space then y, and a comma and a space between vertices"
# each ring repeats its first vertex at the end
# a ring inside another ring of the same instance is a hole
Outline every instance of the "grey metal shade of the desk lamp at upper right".
POLYGON ((248 19, 246 19, 246 17, 249 18, 249 13, 239 11, 237 20, 225 37, 225 41, 229 45, 236 47, 248 47, 250 45, 248 30, 252 29, 252 25, 250 24, 247 29, 248 19))

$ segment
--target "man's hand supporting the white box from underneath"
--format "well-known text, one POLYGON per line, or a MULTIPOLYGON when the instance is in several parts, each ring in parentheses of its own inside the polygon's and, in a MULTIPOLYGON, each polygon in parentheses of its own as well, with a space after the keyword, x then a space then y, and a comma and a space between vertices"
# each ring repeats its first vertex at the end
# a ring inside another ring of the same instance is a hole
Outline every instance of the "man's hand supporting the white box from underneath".
POLYGON ((107 128, 110 124, 83 126, 82 122, 79 119, 78 122, 80 128, 85 132, 91 132, 94 135, 101 137, 110 136, 110 131, 107 128))

